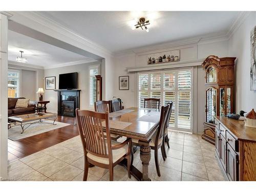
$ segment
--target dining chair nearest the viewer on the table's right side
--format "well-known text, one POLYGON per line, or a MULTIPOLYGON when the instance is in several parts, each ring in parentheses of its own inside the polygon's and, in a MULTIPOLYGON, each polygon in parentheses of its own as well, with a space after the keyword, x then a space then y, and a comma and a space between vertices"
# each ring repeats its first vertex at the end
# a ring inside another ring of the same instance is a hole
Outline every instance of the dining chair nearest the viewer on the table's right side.
MULTIPOLYGON (((154 133, 154 135, 152 136, 151 141, 150 141, 150 147, 152 150, 155 151, 155 164, 156 164, 156 169, 157 169, 157 175, 159 177, 161 176, 161 174, 160 174, 159 161, 158 161, 158 150, 159 150, 159 148, 161 148, 162 157, 165 160, 165 155, 164 155, 164 151, 163 151, 163 138, 164 138, 164 129, 165 129, 169 106, 170 105, 167 104, 166 106, 161 107, 161 115, 160 115, 159 125, 157 128, 157 131, 154 133)), ((139 145, 138 142, 139 142, 139 140, 133 139, 133 143, 135 145, 139 145)))

